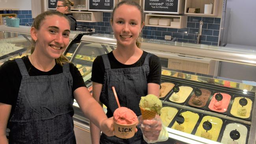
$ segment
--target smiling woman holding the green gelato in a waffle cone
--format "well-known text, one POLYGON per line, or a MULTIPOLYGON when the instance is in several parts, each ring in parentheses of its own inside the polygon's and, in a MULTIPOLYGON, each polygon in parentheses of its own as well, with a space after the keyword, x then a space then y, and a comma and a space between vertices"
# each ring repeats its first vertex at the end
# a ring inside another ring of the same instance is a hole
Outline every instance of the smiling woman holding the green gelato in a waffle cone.
MULTIPOLYGON (((143 10, 136 2, 124 0, 113 9, 111 26, 117 40, 117 48, 109 54, 96 57, 93 62, 93 97, 107 107, 108 118, 118 108, 111 89, 115 87, 121 107, 132 109, 141 115, 139 101, 141 96, 159 96, 161 81, 161 62, 159 57, 140 49, 139 34, 144 26, 143 10)), ((158 116, 159 117, 159 116, 158 116)), ((146 129, 145 136, 154 137, 161 131, 161 122, 150 120, 155 127, 146 129)), ((121 139, 108 137, 93 122, 90 123, 93 144, 144 144, 141 129, 134 137, 121 139)))

